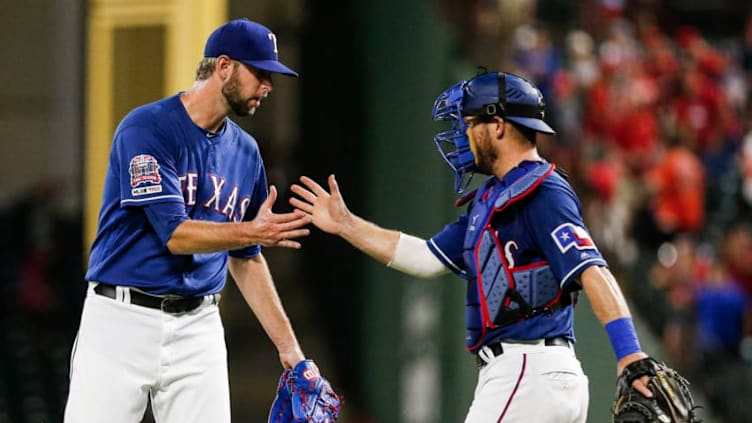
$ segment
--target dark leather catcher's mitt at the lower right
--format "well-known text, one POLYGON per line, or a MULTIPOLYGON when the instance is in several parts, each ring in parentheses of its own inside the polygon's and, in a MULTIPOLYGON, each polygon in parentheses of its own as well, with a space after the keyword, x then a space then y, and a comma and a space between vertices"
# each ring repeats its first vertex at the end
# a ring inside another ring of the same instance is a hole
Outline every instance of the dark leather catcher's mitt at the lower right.
POLYGON ((630 363, 616 381, 613 423, 698 423, 689 382, 676 370, 653 358, 630 363), (650 376, 648 388, 653 398, 646 398, 632 387, 632 381, 650 376))

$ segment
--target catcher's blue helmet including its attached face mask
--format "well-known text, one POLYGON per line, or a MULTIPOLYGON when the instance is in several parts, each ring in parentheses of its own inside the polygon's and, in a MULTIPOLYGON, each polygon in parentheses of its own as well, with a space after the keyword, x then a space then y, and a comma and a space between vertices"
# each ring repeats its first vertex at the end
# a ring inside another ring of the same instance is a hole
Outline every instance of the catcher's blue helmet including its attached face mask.
POLYGON ((433 118, 450 121, 452 129, 436 134, 434 141, 454 170, 455 191, 462 193, 477 170, 463 117, 500 116, 537 132, 554 134, 543 121, 544 109, 543 95, 535 85, 506 72, 486 72, 441 93, 433 105, 433 118))

